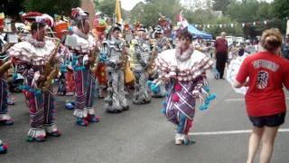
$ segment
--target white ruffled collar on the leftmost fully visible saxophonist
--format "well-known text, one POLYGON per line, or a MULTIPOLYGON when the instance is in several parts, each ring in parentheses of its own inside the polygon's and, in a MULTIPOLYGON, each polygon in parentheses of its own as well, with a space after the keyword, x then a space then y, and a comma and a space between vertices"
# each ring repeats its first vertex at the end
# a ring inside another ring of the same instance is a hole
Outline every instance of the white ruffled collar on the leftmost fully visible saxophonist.
POLYGON ((42 48, 37 48, 28 42, 16 43, 8 53, 22 62, 31 62, 33 65, 44 65, 50 57, 55 44, 51 41, 45 41, 42 48))

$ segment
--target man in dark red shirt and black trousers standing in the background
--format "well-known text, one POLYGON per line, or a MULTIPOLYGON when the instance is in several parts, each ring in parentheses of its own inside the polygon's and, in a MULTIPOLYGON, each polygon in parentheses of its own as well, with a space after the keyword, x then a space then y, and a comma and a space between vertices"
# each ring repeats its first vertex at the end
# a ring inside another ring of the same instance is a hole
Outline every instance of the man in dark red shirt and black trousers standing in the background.
POLYGON ((222 32, 221 38, 217 39, 215 43, 216 49, 216 69, 219 72, 219 79, 223 79, 224 69, 228 60, 228 42, 226 40, 226 33, 222 32))

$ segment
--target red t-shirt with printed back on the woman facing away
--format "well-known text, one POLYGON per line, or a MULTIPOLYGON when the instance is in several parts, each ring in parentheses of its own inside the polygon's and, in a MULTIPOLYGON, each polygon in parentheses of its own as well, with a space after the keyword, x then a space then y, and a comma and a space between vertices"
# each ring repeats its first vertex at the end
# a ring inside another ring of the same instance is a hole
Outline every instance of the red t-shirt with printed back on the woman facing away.
POLYGON ((273 53, 254 53, 242 63, 236 80, 249 87, 246 99, 249 116, 269 116, 286 111, 284 86, 289 89, 289 62, 273 53))

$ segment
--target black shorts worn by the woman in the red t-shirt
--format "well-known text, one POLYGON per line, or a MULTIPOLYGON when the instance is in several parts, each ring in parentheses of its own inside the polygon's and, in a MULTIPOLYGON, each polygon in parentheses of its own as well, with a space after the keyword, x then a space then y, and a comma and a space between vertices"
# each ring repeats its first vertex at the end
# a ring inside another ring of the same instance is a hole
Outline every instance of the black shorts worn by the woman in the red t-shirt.
POLYGON ((260 117, 251 117, 249 119, 252 121, 253 126, 257 128, 267 127, 277 127, 284 123, 286 112, 278 113, 271 116, 260 116, 260 117))

